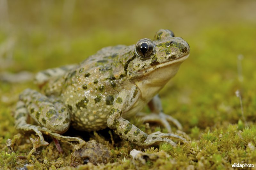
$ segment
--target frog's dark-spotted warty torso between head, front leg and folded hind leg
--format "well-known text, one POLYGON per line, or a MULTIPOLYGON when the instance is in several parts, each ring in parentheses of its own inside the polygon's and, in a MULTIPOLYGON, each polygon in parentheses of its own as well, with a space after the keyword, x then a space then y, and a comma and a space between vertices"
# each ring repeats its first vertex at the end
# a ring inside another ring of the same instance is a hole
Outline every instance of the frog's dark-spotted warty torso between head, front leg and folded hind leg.
POLYGON ((72 126, 92 131, 107 127, 108 114, 126 81, 125 61, 133 46, 106 47, 66 74, 61 98, 71 111, 72 126))

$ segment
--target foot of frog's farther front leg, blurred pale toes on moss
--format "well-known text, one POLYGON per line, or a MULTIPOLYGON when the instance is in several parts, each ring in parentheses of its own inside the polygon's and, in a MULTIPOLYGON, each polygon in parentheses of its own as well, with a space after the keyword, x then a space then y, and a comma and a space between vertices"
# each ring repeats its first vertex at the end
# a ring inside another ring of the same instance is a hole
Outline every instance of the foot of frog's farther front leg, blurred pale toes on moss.
POLYGON ((170 115, 164 114, 163 112, 160 112, 159 114, 157 114, 157 113, 147 114, 147 113, 140 112, 137 115, 141 116, 142 120, 144 122, 157 122, 157 123, 162 124, 164 126, 164 128, 167 129, 167 131, 169 133, 172 132, 172 128, 171 128, 169 122, 172 122, 173 124, 175 124, 179 130, 182 129, 182 126, 178 120, 174 119, 170 115))

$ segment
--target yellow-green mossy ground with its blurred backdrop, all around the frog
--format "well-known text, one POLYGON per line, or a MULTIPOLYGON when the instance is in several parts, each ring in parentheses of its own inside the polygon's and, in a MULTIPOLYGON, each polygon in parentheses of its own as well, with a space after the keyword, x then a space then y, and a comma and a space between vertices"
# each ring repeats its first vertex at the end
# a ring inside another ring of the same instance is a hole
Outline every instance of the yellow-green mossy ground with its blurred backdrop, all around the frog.
MULTIPOLYGON (((82 133, 85 139, 109 147, 111 160, 106 165, 89 163, 77 169, 227 169, 233 163, 256 165, 255 1, 6 2, 8 10, 1 10, 0 15, 1 72, 36 73, 78 63, 102 47, 153 38, 160 28, 172 29, 190 45, 190 57, 160 97, 164 112, 180 121, 191 140, 176 148, 165 143, 148 148, 145 152, 156 153, 159 158, 142 165, 129 155, 133 148, 140 148, 112 132, 113 144, 108 129, 98 135, 82 133), (242 71, 237 71, 237 65, 242 71), (236 90, 242 97, 246 122, 236 90)), ((19 93, 28 87, 37 89, 32 82, 0 82, 0 168, 25 164, 36 169, 74 168, 68 167, 71 145, 61 143, 64 153, 59 154, 48 137, 48 146, 37 149, 31 160, 24 159, 33 147, 29 137, 36 136, 15 130, 12 115, 19 93), (13 152, 6 147, 8 138, 12 139, 13 152)), ((166 132, 136 118, 131 122, 147 133, 166 132)))

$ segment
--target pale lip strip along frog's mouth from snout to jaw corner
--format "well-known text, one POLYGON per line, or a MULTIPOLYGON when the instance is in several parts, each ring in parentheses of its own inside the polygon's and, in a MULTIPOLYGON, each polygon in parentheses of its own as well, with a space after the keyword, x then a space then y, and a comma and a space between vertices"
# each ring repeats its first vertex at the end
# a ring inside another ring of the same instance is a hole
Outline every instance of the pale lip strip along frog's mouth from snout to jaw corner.
MULTIPOLYGON (((130 81, 132 80, 136 80, 136 79, 140 79, 140 77, 145 77, 147 75, 149 75, 150 73, 154 72, 154 70, 158 69, 158 68, 163 68, 165 66, 171 66, 173 65, 174 63, 182 63, 183 61, 185 61, 187 58, 188 58, 189 54, 183 56, 183 57, 180 57, 180 58, 177 58, 177 59, 174 59, 172 61, 167 61, 167 62, 164 62, 164 63, 161 63, 161 64, 158 64, 156 66, 151 66, 151 67, 148 67, 148 68, 145 68, 139 72, 133 72, 132 69, 129 69, 128 67, 128 72, 127 73, 127 76, 129 78, 130 81), (132 76, 129 76, 129 75, 132 75, 132 76)), ((171 79, 171 77, 169 78, 171 79)))

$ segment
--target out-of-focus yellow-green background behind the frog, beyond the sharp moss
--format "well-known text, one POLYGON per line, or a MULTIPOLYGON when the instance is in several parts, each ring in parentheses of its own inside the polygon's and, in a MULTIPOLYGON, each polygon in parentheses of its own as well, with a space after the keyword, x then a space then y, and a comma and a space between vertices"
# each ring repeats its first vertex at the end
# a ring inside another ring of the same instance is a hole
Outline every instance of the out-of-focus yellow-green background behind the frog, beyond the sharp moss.
MULTIPOLYGON (((0 0, 0 72, 78 63, 105 46, 135 44, 171 29, 191 51, 160 97, 164 112, 200 139, 201 132, 242 120, 237 89, 245 119, 256 121, 255 9, 255 0, 0 0)), ((36 88, 0 82, 3 143, 17 133, 11 112, 27 87, 36 88)))

